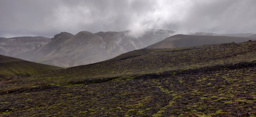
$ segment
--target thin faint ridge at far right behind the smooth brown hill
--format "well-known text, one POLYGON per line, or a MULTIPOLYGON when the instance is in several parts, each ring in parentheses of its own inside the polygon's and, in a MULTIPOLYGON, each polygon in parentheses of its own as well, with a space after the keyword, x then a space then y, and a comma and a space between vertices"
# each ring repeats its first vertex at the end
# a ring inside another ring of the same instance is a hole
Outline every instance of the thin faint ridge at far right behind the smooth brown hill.
POLYGON ((252 36, 254 34, 255 33, 216 34, 216 33, 206 33, 206 32, 195 32, 195 33, 189 33, 188 35, 248 37, 248 36, 252 36))

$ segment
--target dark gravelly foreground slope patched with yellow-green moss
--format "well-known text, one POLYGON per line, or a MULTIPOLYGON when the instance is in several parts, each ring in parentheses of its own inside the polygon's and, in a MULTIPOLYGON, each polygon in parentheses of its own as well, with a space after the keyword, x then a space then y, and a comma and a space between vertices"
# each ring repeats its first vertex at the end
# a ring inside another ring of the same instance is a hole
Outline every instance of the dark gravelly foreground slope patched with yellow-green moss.
POLYGON ((140 49, 2 82, 0 116, 255 116, 255 50, 256 41, 140 49))

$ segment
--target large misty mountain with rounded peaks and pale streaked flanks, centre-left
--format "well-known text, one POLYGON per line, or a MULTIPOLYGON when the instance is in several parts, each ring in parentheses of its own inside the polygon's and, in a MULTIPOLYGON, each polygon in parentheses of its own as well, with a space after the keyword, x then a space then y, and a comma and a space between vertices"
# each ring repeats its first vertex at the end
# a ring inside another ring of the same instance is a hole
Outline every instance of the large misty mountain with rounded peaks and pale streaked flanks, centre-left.
POLYGON ((98 33, 82 31, 76 35, 63 32, 55 35, 45 46, 15 57, 54 66, 72 67, 108 60, 145 48, 173 35, 175 31, 148 29, 139 34, 133 33, 132 30, 98 33))

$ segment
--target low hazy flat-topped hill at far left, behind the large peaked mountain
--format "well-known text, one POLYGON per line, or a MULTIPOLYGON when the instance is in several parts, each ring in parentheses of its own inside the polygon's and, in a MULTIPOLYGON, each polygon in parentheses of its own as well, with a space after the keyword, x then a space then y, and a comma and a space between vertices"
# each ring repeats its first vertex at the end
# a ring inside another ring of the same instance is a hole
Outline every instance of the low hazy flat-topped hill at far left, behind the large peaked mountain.
POLYGON ((0 54, 6 56, 16 56, 23 52, 39 48, 40 45, 45 45, 50 42, 47 37, 13 37, 0 39, 0 54))

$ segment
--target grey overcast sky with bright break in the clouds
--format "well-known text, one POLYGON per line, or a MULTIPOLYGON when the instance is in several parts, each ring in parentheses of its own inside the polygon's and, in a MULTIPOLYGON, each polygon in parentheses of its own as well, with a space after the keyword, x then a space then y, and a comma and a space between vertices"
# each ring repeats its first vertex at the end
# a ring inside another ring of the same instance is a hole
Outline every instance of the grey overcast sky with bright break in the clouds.
POLYGON ((169 29, 256 33, 256 0, 0 0, 0 37, 169 29))

